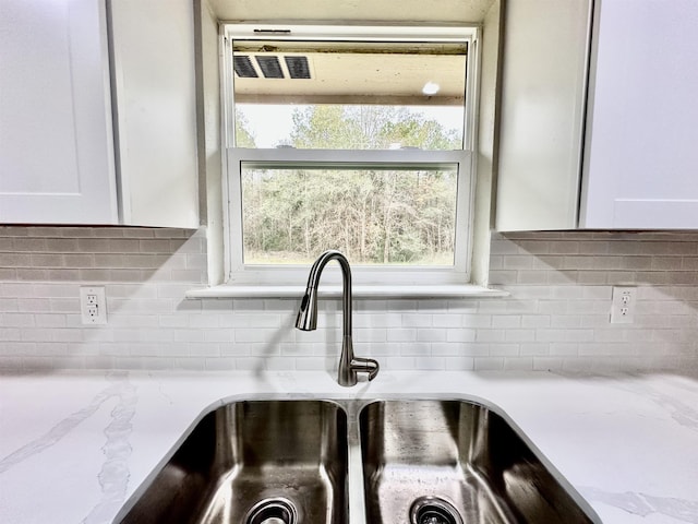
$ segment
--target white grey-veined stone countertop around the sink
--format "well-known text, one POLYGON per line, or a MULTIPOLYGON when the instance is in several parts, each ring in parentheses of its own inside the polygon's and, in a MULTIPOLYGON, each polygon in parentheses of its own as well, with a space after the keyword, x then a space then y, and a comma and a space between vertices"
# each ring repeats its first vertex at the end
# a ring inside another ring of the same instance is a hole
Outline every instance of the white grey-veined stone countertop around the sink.
POLYGON ((0 378, 0 522, 108 523, 228 396, 480 397, 504 409, 604 523, 698 524, 698 378, 676 374, 59 372, 0 378))

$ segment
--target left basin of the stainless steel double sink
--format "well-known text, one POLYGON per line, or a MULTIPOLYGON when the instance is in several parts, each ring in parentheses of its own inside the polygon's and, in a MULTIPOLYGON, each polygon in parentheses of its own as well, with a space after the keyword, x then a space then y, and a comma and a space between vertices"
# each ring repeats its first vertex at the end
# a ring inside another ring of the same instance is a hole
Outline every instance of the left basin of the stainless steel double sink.
POLYGON ((232 402, 206 414, 115 522, 348 522, 347 416, 328 401, 232 402))

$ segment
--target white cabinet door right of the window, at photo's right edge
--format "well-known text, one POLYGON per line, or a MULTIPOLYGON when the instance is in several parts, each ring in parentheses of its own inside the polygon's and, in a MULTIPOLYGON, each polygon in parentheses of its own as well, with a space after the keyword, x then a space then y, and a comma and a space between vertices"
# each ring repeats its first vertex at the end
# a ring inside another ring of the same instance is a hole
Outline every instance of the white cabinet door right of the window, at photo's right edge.
POLYGON ((597 2, 580 226, 698 228, 698 2, 597 2))

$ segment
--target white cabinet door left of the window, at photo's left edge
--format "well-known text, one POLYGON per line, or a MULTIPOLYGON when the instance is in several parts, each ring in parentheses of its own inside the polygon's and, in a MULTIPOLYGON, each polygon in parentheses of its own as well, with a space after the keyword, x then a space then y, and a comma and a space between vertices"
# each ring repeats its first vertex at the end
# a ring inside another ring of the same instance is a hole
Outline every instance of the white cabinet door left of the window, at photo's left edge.
POLYGON ((116 224, 105 2, 0 0, 0 223, 116 224))

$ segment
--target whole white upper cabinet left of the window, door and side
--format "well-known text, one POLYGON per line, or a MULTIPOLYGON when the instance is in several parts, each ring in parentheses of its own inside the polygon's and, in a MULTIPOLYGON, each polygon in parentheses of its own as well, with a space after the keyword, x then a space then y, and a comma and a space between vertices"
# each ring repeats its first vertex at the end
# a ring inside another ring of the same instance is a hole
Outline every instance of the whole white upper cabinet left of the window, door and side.
POLYGON ((191 0, 0 0, 0 224, 197 227, 194 48, 191 0))

